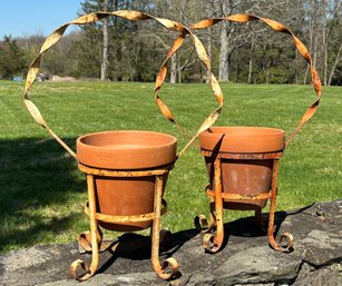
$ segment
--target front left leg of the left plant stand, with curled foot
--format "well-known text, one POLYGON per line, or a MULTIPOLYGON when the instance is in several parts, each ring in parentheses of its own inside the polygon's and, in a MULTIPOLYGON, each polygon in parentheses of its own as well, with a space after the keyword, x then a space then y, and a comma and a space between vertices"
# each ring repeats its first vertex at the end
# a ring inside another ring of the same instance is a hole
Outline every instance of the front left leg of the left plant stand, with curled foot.
POLYGON ((78 280, 88 280, 97 270, 99 263, 99 246, 97 239, 97 228, 98 223, 95 217, 96 215, 96 196, 95 196, 95 179, 92 175, 87 174, 87 187, 88 187, 88 198, 89 198, 89 220, 90 220, 90 240, 91 240, 91 264, 90 267, 87 266, 80 259, 74 262, 70 266, 70 274, 78 280), (77 268, 81 266, 86 273, 82 275, 77 275, 77 268))

